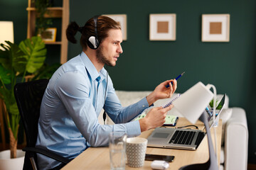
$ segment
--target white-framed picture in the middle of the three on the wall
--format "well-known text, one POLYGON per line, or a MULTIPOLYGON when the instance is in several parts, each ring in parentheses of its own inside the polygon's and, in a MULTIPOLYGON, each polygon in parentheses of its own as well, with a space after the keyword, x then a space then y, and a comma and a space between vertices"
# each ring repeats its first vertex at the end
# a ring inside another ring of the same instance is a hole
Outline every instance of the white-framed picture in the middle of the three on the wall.
POLYGON ((150 14, 149 40, 176 40, 176 14, 150 14))

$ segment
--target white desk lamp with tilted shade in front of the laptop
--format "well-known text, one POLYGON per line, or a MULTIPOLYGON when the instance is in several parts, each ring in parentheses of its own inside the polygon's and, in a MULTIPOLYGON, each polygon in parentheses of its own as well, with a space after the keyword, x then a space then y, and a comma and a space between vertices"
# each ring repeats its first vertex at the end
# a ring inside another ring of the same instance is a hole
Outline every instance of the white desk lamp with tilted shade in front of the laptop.
MULTIPOLYGON (((188 170, 188 169, 210 169, 210 170, 218 170, 218 163, 216 154, 213 149, 213 142, 210 137, 210 129, 207 120, 207 113, 205 111, 206 107, 210 103, 210 101, 214 98, 214 111, 213 115, 215 119, 215 101, 216 101, 216 90, 215 86, 208 84, 205 86, 202 82, 198 82, 191 89, 188 89, 184 94, 182 94, 176 101, 174 101, 173 105, 181 113, 188 121, 195 124, 199 119, 206 126, 206 135, 208 137, 208 149, 209 149, 209 160, 203 164, 190 164, 181 167, 180 170, 188 170), (213 92, 210 91, 210 88, 213 87, 213 92)), ((216 149, 217 150, 217 149, 216 149)))

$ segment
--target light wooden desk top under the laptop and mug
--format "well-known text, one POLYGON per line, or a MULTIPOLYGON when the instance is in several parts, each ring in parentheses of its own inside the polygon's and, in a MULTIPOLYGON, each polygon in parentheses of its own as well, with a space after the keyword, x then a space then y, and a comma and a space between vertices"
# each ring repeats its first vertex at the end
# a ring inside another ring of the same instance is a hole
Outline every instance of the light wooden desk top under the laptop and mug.
MULTIPOLYGON (((185 118, 179 118, 176 127, 183 125, 191 125, 185 118)), ((200 130, 203 130, 203 123, 198 121, 196 123, 200 130)), ((215 128, 217 135, 218 143, 218 162, 220 162, 220 143, 221 143, 221 130, 222 129, 222 120, 219 121, 218 127, 215 128)), ((148 137, 151 134, 152 130, 142 132, 140 137, 148 137)), ((211 134, 213 134, 213 128, 211 128, 211 134)), ((213 145, 214 145, 214 136, 212 135, 213 145)), ((174 162, 169 163, 169 169, 176 170, 181 166, 187 164, 196 164, 207 162, 209 159, 208 154, 208 141, 207 137, 204 137, 203 141, 199 145, 196 151, 190 150, 181 150, 181 149, 163 149, 163 148, 154 148, 147 147, 147 154, 166 154, 174 155, 174 162)), ((90 147, 82 152, 78 157, 73 159, 72 162, 63 167, 63 170, 73 170, 73 169, 110 169, 110 151, 108 147, 90 147)), ((151 162, 145 161, 144 166, 141 168, 131 168, 126 165, 125 169, 151 169, 151 162)))

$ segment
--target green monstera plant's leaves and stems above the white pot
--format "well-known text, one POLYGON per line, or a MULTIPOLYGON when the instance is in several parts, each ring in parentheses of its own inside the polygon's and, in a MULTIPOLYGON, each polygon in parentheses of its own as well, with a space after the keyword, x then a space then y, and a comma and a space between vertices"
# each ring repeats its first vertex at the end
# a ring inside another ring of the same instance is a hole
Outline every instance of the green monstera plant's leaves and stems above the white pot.
POLYGON ((9 130, 11 158, 16 158, 20 115, 14 98, 14 85, 26 80, 43 66, 46 59, 46 45, 36 36, 16 45, 6 41, 0 50, 0 98, 5 103, 4 118, 9 130))

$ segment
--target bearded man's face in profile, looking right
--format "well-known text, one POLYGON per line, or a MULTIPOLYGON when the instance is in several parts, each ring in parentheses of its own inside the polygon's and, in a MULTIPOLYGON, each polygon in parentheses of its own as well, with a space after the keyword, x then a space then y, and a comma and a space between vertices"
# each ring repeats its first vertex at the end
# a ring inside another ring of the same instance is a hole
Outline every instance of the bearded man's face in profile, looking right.
POLYGON ((121 42, 121 30, 109 30, 107 38, 102 40, 100 47, 96 51, 97 61, 114 67, 119 54, 123 52, 121 42))

